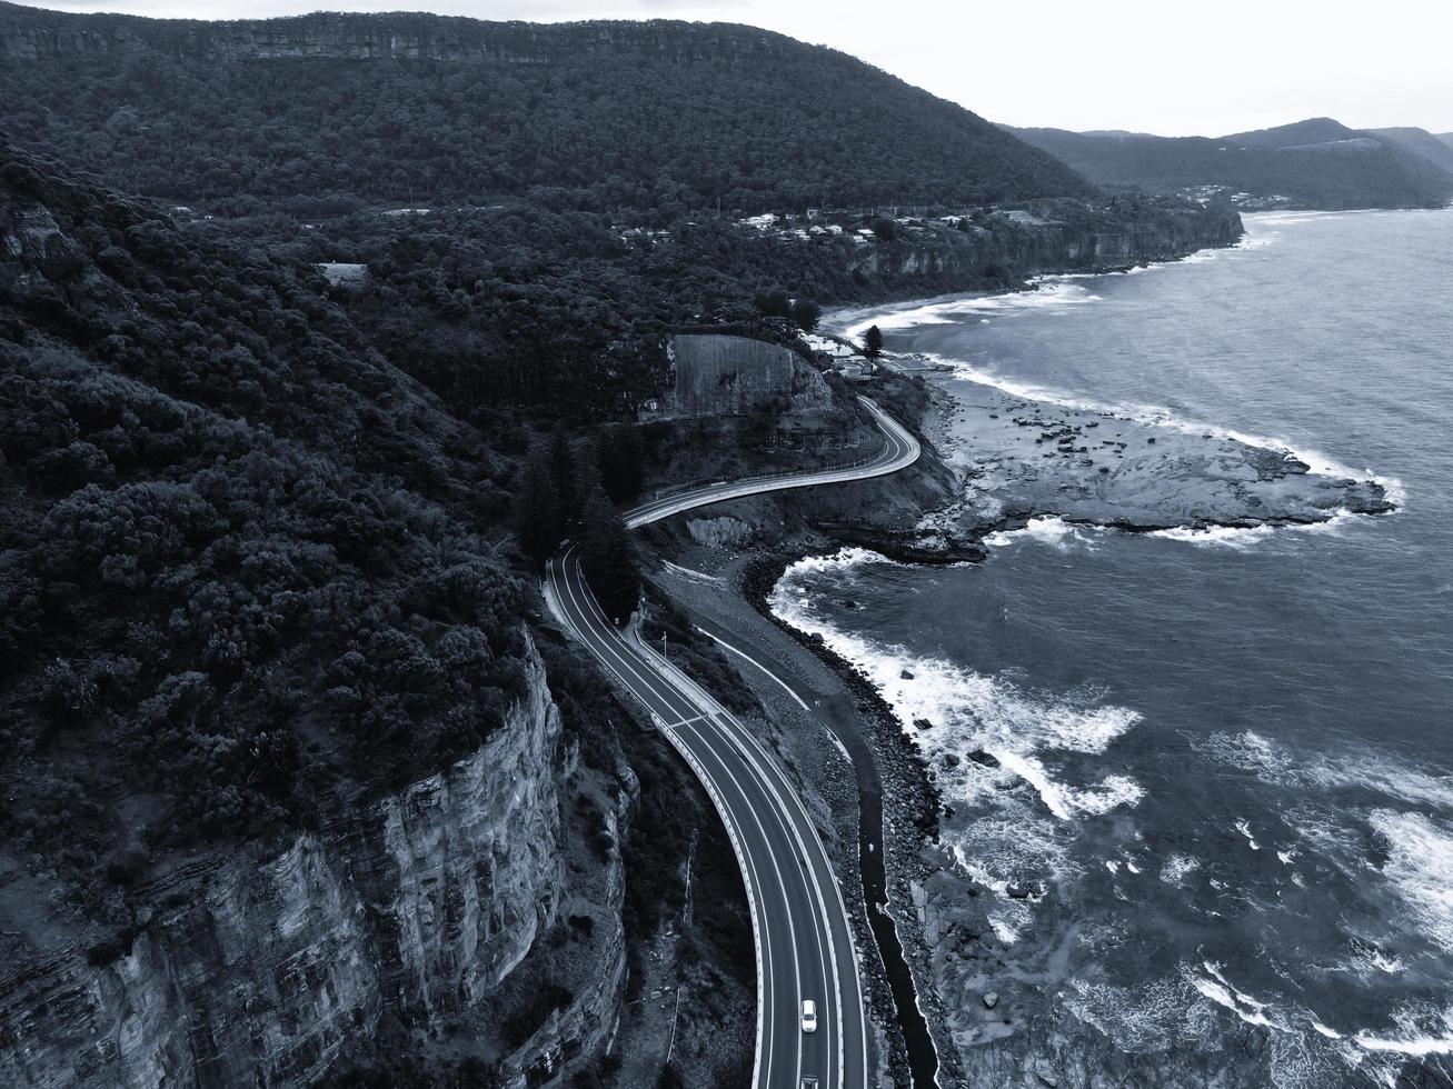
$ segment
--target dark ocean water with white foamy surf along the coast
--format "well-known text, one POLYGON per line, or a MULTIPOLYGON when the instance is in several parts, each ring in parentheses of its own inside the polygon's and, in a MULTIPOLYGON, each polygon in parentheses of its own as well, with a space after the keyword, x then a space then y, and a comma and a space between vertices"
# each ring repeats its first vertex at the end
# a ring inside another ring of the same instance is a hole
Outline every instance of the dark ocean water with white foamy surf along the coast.
POLYGON ((943 842, 997 890, 998 938, 1032 957, 1072 928, 1046 1000, 1132 1051, 1251 1027, 1268 1083, 1446 1076, 1453 211, 1247 221, 1235 250, 843 328, 952 362, 949 391, 1289 446, 1377 476, 1396 514, 1158 534, 1043 517, 979 565, 804 560, 774 608, 859 664, 939 765, 943 842))

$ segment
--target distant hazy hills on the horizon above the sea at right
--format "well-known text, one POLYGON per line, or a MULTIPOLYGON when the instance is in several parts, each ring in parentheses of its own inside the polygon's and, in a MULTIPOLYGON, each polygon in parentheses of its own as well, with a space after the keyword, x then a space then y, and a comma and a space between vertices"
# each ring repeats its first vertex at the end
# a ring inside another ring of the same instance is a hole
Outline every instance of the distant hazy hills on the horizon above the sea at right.
POLYGON ((1311 118, 1219 138, 1008 131, 1091 182, 1157 193, 1222 187, 1254 203, 1328 209, 1441 208, 1453 197, 1453 167, 1414 138, 1421 129, 1363 132, 1311 118))

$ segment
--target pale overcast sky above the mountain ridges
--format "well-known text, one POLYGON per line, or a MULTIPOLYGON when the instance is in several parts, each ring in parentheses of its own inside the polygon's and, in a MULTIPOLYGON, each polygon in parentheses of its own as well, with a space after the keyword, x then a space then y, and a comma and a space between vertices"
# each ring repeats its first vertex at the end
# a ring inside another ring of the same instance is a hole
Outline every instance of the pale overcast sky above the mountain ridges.
POLYGON ((1311 116, 1453 131, 1453 0, 49 0, 240 19, 401 7, 722 20, 843 49, 992 121, 1225 135, 1311 116))

